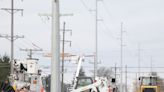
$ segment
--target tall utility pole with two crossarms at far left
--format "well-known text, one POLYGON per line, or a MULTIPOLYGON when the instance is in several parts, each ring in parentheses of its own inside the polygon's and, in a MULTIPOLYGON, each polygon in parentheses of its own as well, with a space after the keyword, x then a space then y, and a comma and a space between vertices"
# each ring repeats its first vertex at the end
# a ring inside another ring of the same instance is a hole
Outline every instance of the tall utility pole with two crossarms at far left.
MULTIPOLYGON (((11 67, 10 67, 10 73, 11 75, 14 73, 13 70, 13 62, 14 62, 14 40, 17 38, 23 38, 23 36, 14 36, 14 13, 15 11, 22 11, 23 14, 23 9, 14 9, 14 0, 11 0, 11 8, 1 8, 1 10, 5 10, 11 14, 11 36, 10 36, 10 41, 11 41, 11 67)), ((7 36, 9 37, 9 36, 7 36)), ((6 38, 6 37, 5 37, 6 38)))

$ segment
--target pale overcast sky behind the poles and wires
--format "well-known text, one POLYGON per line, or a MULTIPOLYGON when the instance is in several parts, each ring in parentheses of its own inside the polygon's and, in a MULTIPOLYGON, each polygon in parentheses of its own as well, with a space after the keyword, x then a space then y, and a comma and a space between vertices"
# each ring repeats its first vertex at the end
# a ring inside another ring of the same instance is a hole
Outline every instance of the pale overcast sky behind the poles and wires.
MULTIPOLYGON (((141 66, 164 65, 164 1, 163 0, 103 0, 98 2, 98 59, 100 66, 120 65, 120 29, 123 22, 123 65, 137 66, 138 44, 141 47, 141 66)), ((32 43, 50 52, 51 17, 39 16, 39 13, 51 13, 51 0, 15 0, 15 35, 24 35, 15 41, 15 58, 25 58, 20 48, 36 48, 32 43)), ((0 0, 0 8, 10 8, 10 0, 0 0)), ((72 36, 66 33, 66 52, 90 54, 95 48, 95 0, 60 0, 61 14, 73 13, 73 16, 61 17, 66 28, 72 29, 72 36)), ((10 14, 0 11, 0 34, 10 34, 10 14)), ((10 55, 10 42, 0 39, 0 53, 10 55)), ((35 54, 41 64, 50 64, 50 59, 35 54), (45 63, 48 62, 48 63, 45 63)), ((91 66, 91 65, 90 65, 91 66)), ((130 71, 130 70, 129 70, 130 71)))

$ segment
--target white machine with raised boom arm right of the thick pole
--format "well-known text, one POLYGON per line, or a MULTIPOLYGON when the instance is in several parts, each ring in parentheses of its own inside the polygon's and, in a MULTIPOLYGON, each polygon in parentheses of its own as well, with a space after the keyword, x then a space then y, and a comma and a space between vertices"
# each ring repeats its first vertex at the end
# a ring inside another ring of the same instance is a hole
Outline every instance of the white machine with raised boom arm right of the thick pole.
POLYGON ((106 78, 96 77, 96 80, 93 81, 92 77, 79 76, 83 60, 84 56, 78 57, 78 66, 73 80, 71 92, 108 92, 109 88, 106 78))

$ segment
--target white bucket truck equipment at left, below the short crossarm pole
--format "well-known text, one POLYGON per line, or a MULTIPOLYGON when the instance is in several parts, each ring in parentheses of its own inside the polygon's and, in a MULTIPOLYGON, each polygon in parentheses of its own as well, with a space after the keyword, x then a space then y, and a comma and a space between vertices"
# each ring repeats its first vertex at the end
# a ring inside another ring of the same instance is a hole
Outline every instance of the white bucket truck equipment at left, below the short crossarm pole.
POLYGON ((14 62, 14 74, 9 77, 15 91, 22 89, 39 92, 41 86, 41 70, 38 59, 26 59, 14 62))

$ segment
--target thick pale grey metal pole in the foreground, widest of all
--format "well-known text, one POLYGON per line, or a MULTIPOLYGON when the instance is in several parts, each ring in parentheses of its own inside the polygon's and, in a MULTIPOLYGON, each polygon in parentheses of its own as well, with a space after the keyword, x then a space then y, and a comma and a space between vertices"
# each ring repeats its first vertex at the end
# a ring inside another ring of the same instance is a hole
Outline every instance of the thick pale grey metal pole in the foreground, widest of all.
POLYGON ((61 92, 59 0, 52 0, 51 91, 61 92))

